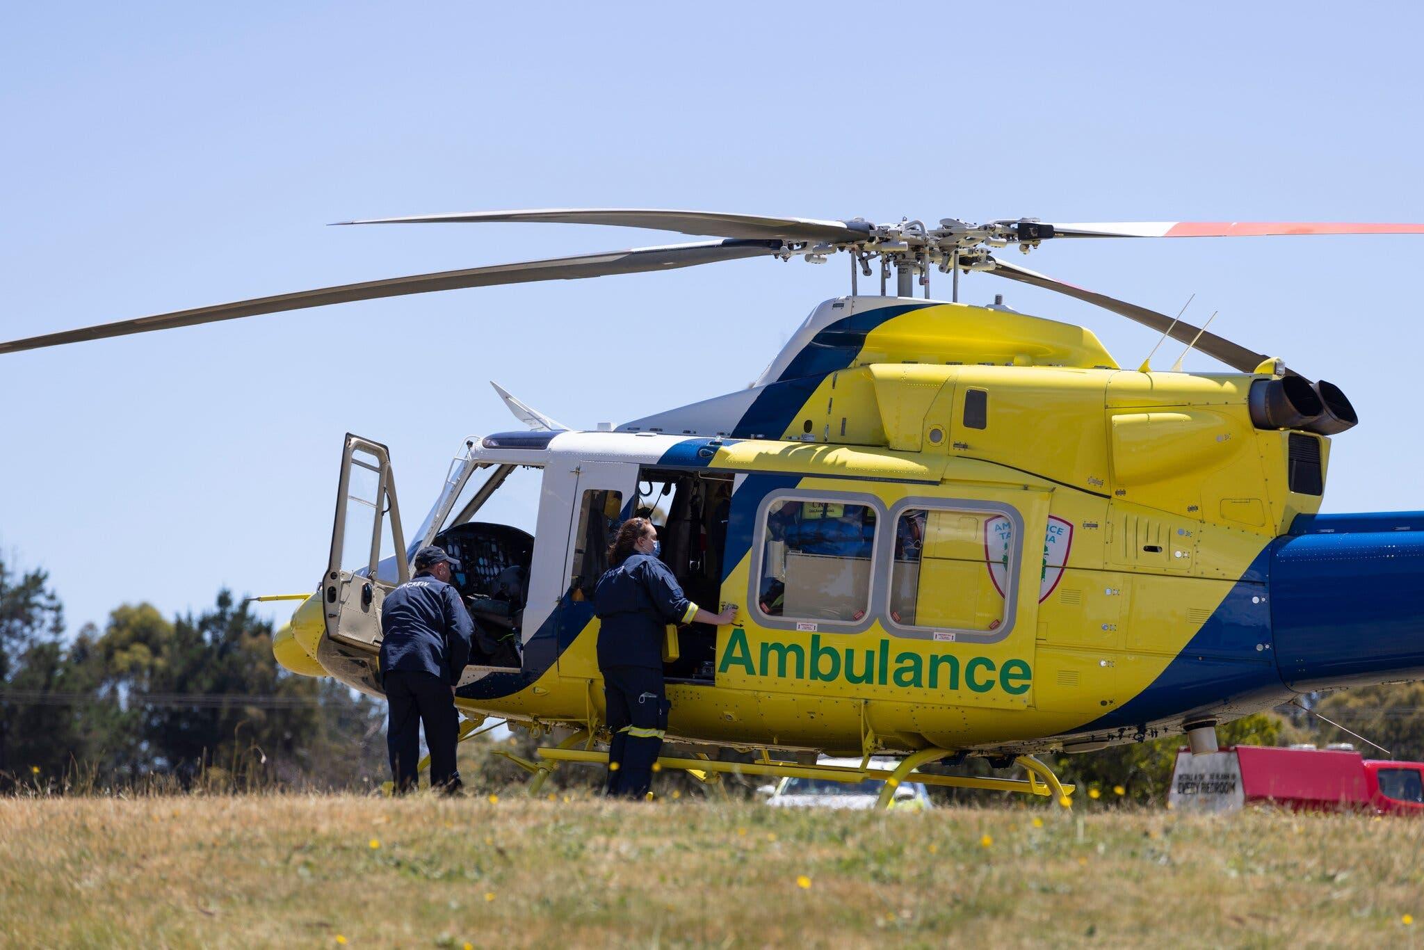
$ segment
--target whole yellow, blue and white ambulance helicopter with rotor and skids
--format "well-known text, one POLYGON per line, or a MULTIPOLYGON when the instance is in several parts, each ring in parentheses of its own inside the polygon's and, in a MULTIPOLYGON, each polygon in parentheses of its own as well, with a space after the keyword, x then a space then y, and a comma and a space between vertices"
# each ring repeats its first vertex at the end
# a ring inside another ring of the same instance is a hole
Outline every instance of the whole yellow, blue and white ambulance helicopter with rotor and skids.
MULTIPOLYGON (((534 759, 607 762, 592 585, 628 517, 728 627, 669 627, 661 768, 903 782, 1049 796, 1038 758, 1185 734, 1319 689, 1424 677, 1424 513, 1319 514, 1344 392, 1178 318, 997 251, 1109 238, 1424 234, 1418 224, 1091 222, 938 226, 696 211, 544 209, 373 224, 590 224, 713 241, 392 278, 0 343, 0 353, 349 301, 592 278, 745 258, 850 261, 748 387, 574 430, 496 385, 523 429, 463 440, 406 533, 387 447, 347 433, 326 570, 273 637, 288 669, 382 695, 380 607, 439 544, 478 634, 456 689, 461 739, 487 718, 541 736, 534 759), (880 293, 860 293, 879 269, 880 293), (930 299, 934 271, 951 299, 930 299), (1088 329, 958 301, 987 273, 1094 303, 1213 356, 1121 367, 1088 329), (891 282, 894 283, 891 292, 891 282), (916 291, 923 296, 916 296, 916 291), (480 520, 511 479, 534 531, 480 520), (750 752, 750 762, 716 758, 750 752), (817 756, 859 766, 816 765, 817 756), (897 759, 873 768, 871 756, 897 759), (926 772, 971 756, 1024 779, 926 772)), ((1209 323, 1209 322, 1208 322, 1209 323)))

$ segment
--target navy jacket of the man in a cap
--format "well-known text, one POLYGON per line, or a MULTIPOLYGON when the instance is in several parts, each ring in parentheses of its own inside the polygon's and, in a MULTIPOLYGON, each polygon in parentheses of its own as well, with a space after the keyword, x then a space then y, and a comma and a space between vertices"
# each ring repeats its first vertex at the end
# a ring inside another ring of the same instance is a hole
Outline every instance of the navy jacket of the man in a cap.
POLYGON ((460 593, 422 571, 380 607, 380 671, 429 672, 453 687, 470 662, 473 631, 460 593))

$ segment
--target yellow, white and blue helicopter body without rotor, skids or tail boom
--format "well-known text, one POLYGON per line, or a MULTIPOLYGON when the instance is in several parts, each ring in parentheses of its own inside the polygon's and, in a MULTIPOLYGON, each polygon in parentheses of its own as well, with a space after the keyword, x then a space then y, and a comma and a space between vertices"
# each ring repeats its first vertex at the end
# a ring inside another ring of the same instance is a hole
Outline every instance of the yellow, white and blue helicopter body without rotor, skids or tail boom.
MULTIPOLYGON (((669 634, 669 738, 856 755, 1149 738, 1303 688, 1277 658, 1269 574, 1320 506, 1329 439, 1253 422, 1272 369, 1122 370, 1077 326, 830 301, 749 390, 615 432, 468 440, 461 484, 400 550, 527 558, 517 655, 467 668, 471 714, 597 729, 590 581, 638 511, 661 514, 693 600, 740 605, 733 625, 669 634), (478 506, 454 513, 471 474, 515 466, 541 477, 527 551, 478 506)), ((367 467, 389 481, 389 460, 367 467)), ((376 547, 357 571, 333 554, 278 638, 283 664, 379 688, 379 605, 406 568, 376 547)), ((477 620, 504 610, 493 583, 471 581, 477 620)))

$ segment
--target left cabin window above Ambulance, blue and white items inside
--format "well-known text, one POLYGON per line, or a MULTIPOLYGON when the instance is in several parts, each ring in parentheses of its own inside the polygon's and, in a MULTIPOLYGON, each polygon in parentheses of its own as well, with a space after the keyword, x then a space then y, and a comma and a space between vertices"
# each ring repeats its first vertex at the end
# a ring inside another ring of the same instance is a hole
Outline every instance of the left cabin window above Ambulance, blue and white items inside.
POLYGON ((758 610, 769 618, 859 624, 870 608, 876 510, 779 499, 762 526, 758 610))

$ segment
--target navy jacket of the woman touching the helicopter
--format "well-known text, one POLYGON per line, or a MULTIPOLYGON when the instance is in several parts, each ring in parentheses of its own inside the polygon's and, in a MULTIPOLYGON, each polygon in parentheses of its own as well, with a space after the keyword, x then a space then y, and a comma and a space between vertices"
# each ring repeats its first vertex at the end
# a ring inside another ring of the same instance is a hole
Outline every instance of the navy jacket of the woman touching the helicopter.
POLYGON ((598 668, 662 669, 662 638, 668 624, 688 624, 698 612, 668 565, 651 554, 634 554, 598 578, 598 668))

